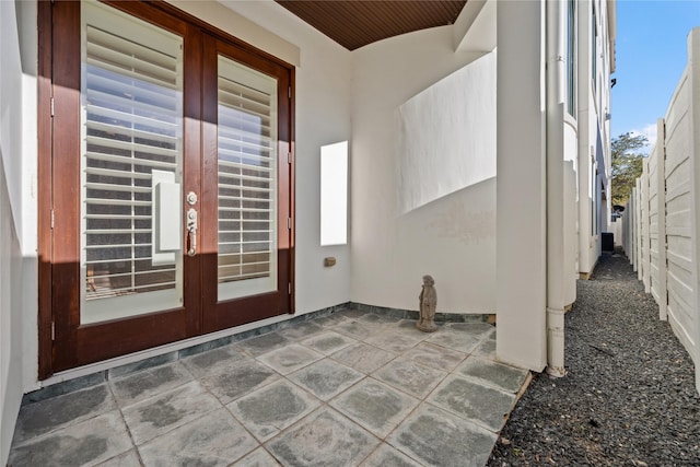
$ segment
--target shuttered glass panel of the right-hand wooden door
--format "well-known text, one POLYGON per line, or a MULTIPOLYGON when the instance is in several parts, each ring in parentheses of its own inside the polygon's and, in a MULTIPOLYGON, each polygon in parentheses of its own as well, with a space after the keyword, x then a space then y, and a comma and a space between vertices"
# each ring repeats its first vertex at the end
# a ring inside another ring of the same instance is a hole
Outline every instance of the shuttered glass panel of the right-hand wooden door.
POLYGON ((219 301, 277 290, 277 80, 219 56, 219 301))

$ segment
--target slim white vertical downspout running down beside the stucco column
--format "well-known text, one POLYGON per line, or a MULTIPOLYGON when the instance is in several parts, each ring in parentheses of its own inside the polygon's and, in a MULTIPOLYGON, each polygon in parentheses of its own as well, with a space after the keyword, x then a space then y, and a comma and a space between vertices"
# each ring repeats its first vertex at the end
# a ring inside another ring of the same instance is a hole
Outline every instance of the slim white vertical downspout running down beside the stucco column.
POLYGON ((547 96, 547 373, 564 369, 564 1, 546 2, 547 96))

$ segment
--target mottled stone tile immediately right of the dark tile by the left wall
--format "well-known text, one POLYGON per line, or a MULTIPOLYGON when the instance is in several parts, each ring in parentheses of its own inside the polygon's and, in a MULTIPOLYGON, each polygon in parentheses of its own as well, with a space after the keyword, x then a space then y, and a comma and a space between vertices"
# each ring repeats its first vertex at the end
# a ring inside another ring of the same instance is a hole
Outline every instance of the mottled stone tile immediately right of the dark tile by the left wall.
POLYGON ((221 408, 198 382, 142 400, 121 410, 137 445, 221 408))

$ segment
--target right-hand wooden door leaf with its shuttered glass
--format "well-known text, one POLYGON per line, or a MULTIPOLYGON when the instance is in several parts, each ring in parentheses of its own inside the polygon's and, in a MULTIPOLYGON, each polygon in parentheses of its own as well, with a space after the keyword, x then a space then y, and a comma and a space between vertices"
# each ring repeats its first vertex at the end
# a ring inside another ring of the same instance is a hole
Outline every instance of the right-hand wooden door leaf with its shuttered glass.
POLYGON ((212 331, 291 312, 290 70, 205 38, 202 297, 212 331))

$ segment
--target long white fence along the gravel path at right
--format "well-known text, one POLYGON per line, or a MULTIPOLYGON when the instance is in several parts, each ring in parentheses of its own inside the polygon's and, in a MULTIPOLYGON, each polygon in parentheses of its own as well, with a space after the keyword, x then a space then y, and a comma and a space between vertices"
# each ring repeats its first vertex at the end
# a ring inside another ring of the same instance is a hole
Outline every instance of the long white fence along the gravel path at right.
POLYGON ((626 206, 621 243, 660 319, 691 355, 700 392, 700 27, 688 57, 626 206))

